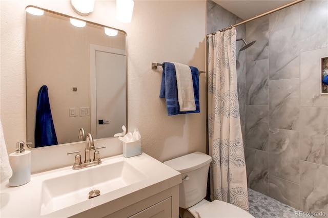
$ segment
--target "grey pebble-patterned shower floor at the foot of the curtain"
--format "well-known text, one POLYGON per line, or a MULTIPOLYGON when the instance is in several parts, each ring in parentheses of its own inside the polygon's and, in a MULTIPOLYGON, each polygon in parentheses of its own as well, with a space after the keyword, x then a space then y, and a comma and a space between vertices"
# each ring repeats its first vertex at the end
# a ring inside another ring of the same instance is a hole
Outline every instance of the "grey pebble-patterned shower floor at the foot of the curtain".
POLYGON ((309 217, 313 216, 300 216, 297 213, 299 210, 285 205, 273 198, 268 197, 265 194, 248 189, 250 213, 256 218, 297 218, 297 217, 309 217))

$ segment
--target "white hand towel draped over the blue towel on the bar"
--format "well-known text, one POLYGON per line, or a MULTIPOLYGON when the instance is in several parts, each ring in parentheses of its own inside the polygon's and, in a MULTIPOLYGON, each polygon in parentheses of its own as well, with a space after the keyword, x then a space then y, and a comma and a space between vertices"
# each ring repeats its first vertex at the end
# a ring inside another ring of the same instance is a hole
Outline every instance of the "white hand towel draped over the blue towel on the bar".
POLYGON ((190 67, 181 63, 173 64, 175 66, 180 112, 196 111, 194 85, 190 67))

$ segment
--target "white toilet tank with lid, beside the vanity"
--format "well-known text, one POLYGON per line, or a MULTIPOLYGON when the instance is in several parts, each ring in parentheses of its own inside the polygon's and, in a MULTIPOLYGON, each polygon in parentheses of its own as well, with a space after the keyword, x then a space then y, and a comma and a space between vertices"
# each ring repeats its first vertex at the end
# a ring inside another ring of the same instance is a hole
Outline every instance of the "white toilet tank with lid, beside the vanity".
POLYGON ((212 158, 202 152, 181 156, 164 164, 179 171, 182 183, 179 185, 179 206, 189 208, 206 197, 207 178, 212 158), (186 177, 189 180, 183 180, 186 177))

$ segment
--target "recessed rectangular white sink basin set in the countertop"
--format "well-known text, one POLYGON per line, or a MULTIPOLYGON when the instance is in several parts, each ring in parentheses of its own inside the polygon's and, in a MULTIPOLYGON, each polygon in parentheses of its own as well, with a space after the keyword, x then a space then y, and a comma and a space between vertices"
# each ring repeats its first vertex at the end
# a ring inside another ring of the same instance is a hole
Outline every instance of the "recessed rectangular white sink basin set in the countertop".
POLYGON ((88 201, 89 192, 94 189, 98 189, 101 195, 146 178, 144 173, 126 161, 72 170, 67 175, 43 181, 40 215, 88 201))

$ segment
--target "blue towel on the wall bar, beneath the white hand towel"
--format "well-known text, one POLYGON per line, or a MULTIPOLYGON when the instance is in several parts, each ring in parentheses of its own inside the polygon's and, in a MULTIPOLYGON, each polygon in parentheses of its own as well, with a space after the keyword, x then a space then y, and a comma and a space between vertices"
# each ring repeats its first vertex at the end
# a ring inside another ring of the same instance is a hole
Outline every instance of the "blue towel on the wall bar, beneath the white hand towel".
POLYGON ((173 63, 163 62, 162 81, 160 85, 160 98, 166 99, 168 115, 199 113, 199 72, 195 67, 190 67, 193 86, 196 111, 180 112, 178 101, 178 88, 176 83, 175 67, 173 63))

